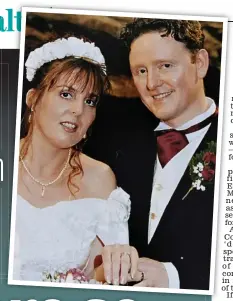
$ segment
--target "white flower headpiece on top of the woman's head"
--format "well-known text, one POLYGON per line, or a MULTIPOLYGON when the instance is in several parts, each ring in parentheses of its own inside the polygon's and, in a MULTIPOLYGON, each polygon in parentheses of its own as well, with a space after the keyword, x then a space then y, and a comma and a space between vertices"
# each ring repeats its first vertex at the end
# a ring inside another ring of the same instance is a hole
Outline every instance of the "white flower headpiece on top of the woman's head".
POLYGON ((28 81, 33 80, 36 70, 45 63, 68 56, 87 59, 95 64, 103 65, 103 70, 106 74, 105 59, 99 47, 95 46, 94 43, 70 37, 68 39, 62 38, 54 42, 48 42, 30 52, 25 63, 28 81))

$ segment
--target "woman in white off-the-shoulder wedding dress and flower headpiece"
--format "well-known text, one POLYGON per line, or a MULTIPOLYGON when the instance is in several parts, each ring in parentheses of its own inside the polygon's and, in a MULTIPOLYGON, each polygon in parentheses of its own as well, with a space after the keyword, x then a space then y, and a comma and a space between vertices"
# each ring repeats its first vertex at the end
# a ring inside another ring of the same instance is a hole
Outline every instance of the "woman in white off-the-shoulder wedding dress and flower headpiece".
POLYGON ((13 280, 61 282, 67 279, 55 272, 79 269, 104 281, 97 255, 103 245, 128 244, 130 213, 129 195, 116 187, 111 169, 82 153, 109 88, 104 57, 93 43, 69 37, 36 48, 25 66, 31 88, 20 141, 13 280))

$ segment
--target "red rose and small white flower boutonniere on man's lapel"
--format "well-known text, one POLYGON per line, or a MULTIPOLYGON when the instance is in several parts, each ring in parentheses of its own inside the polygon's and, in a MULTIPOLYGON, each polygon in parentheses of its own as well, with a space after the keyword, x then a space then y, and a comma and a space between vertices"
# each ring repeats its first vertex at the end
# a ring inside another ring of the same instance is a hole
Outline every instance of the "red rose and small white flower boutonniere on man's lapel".
POLYGON ((189 163, 189 174, 192 186, 186 196, 193 190, 205 191, 209 185, 213 185, 216 165, 216 142, 207 143, 207 149, 196 154, 189 163))

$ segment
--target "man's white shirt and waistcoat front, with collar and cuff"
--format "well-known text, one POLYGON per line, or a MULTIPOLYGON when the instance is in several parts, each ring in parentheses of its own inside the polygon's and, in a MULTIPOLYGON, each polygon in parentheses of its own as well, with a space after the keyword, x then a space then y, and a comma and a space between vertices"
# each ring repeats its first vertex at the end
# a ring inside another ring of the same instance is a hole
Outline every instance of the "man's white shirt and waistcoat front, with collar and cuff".
MULTIPOLYGON (((207 98, 209 108, 204 113, 189 120, 182 126, 176 128, 177 130, 185 130, 190 126, 198 124, 199 122, 210 117, 216 110, 216 105, 211 98, 207 98)), ((153 189, 151 196, 150 215, 149 215, 149 229, 148 229, 148 244, 150 243, 161 217, 170 202, 170 199, 178 186, 188 164, 194 155, 196 149, 200 145, 202 139, 206 135, 210 124, 200 129, 199 131, 187 134, 186 137, 189 144, 183 148, 177 155, 175 155, 162 168, 158 156, 156 158, 153 189), (175 172, 174 172, 175 171, 175 172)), ((171 129, 170 126, 164 122, 160 122, 155 131, 171 129)), ((172 263, 164 263, 168 273, 169 287, 179 288, 179 274, 172 263)))

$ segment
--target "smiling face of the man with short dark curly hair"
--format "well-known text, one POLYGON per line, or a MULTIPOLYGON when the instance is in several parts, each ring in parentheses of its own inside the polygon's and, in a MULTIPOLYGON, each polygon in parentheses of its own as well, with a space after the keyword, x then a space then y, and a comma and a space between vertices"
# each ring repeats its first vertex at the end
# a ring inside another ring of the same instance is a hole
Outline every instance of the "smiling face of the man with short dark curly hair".
POLYGON ((200 72, 202 65, 196 57, 183 43, 158 32, 145 33, 131 45, 130 68, 140 97, 157 118, 171 126, 192 119, 200 109, 206 73, 200 72))

